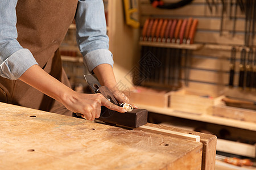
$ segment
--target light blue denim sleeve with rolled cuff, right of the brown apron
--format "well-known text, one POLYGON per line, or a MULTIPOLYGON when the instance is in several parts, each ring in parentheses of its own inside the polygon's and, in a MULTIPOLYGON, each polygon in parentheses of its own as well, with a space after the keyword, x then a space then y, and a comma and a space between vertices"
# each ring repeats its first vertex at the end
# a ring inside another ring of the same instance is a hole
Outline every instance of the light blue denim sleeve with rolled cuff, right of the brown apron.
POLYGON ((77 44, 89 71, 107 63, 113 67, 106 35, 106 20, 102 0, 79 0, 76 12, 77 44))

